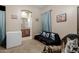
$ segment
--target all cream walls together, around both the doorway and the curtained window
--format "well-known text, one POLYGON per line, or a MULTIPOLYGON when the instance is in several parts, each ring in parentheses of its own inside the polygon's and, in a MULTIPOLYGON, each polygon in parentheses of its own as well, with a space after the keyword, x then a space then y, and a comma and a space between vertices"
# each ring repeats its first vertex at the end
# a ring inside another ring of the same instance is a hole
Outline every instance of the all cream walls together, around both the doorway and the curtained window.
POLYGON ((32 12, 32 36, 38 34, 41 29, 41 13, 52 10, 52 32, 56 32, 63 38, 68 33, 77 33, 77 6, 75 5, 59 5, 59 6, 47 6, 46 8, 39 9, 34 8, 32 6, 26 5, 14 5, 14 6, 6 6, 6 30, 8 31, 19 31, 21 30, 21 19, 20 13, 21 10, 30 10, 32 12), (57 23, 56 22, 56 15, 66 13, 67 14, 67 21, 57 23), (16 19, 11 19, 11 15, 16 14, 18 16, 16 19), (37 22, 35 19, 39 18, 37 22))

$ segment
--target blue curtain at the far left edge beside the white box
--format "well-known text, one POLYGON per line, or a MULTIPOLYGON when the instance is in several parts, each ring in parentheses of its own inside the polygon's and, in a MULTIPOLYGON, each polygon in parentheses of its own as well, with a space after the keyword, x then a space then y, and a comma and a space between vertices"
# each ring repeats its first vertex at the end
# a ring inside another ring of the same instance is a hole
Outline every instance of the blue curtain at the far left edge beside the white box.
POLYGON ((5 11, 0 10, 0 44, 2 44, 5 39, 5 31, 5 11))

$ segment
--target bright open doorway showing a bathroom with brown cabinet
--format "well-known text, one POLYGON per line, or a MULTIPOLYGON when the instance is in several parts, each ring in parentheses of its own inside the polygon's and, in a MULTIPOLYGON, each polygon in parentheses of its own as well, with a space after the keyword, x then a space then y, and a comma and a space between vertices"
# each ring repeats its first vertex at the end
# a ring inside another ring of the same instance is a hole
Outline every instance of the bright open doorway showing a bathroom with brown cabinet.
POLYGON ((21 11, 21 32, 22 37, 32 37, 32 12, 29 10, 21 11))

